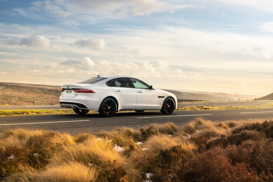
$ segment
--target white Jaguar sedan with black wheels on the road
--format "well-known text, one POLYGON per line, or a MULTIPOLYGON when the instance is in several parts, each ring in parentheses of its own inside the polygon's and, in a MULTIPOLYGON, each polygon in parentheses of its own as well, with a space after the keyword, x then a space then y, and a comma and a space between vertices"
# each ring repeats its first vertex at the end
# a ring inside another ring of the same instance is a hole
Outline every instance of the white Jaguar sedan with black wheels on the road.
POLYGON ((137 78, 98 75, 63 85, 60 106, 72 108, 77 114, 99 111, 104 117, 118 111, 160 110, 162 114, 172 114, 177 99, 174 94, 155 89, 137 78))

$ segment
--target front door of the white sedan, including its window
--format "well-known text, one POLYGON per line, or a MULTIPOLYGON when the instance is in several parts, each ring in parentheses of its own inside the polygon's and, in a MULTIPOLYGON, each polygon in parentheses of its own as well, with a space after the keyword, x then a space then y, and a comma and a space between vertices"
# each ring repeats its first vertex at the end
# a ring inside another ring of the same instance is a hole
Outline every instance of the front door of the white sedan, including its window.
POLYGON ((129 78, 133 83, 137 98, 136 108, 140 109, 156 109, 158 103, 158 93, 154 89, 150 89, 149 85, 141 80, 129 78))

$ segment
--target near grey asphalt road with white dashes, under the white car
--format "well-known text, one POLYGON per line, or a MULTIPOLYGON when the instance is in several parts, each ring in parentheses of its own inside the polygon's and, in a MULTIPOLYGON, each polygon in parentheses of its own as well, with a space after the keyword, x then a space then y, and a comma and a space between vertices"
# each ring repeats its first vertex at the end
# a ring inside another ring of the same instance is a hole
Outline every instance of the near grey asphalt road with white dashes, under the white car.
POLYGON ((210 121, 273 119, 273 108, 229 109, 174 111, 171 115, 163 115, 160 111, 145 111, 143 113, 118 112, 111 118, 100 117, 99 114, 58 114, 0 117, 0 131, 9 128, 47 129, 76 134, 79 132, 97 132, 112 130, 116 127, 140 128, 151 123, 174 122, 182 125, 202 117, 210 121))

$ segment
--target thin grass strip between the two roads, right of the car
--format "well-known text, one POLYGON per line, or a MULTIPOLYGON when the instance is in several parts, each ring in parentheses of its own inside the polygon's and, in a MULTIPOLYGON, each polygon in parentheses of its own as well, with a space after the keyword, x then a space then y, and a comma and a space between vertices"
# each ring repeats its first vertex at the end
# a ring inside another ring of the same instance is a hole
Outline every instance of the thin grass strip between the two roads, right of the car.
POLYGON ((219 109, 256 109, 256 108, 268 108, 261 106, 220 106, 220 107, 210 107, 210 106, 190 106, 190 107, 181 107, 177 108, 179 111, 188 111, 188 110, 219 110, 219 109))

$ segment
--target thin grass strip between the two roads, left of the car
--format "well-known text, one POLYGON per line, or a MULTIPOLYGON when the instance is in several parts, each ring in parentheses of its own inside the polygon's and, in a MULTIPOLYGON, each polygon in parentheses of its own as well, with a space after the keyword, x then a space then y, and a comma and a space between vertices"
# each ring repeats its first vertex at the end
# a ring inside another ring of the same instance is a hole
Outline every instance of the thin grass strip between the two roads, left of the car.
MULTIPOLYGON (((89 111, 92 112, 92 111, 89 111)), ((94 112, 94 111, 93 111, 94 112)), ((0 116, 18 116, 18 115, 34 115, 34 114, 75 114, 72 109, 58 110, 0 110, 0 116)))

